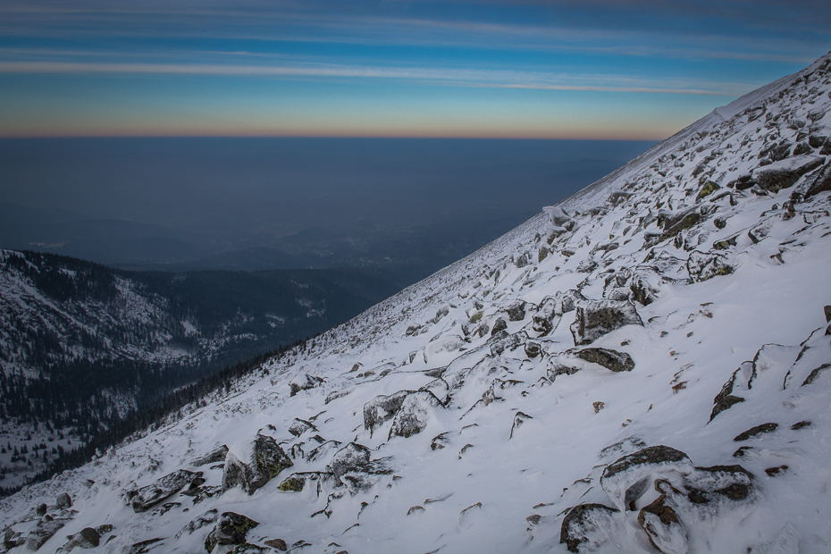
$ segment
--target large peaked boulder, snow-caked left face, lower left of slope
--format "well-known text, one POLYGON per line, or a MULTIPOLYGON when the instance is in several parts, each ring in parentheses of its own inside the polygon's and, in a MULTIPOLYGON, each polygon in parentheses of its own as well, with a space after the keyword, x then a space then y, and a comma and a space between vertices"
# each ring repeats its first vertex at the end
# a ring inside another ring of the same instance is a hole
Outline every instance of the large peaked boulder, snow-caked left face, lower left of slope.
POLYGON ((248 445, 238 443, 228 452, 222 473, 222 490, 240 486, 248 494, 254 494, 282 470, 293 465, 291 458, 273 437, 258 434, 253 442, 248 445))

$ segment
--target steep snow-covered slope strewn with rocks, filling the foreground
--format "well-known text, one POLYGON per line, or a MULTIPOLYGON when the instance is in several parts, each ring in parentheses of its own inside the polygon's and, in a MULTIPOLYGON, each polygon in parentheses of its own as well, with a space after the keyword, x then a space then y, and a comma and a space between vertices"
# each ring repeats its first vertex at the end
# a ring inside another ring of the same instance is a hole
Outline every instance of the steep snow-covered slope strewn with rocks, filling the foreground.
POLYGON ((5 499, 6 548, 831 550, 829 67, 5 499))

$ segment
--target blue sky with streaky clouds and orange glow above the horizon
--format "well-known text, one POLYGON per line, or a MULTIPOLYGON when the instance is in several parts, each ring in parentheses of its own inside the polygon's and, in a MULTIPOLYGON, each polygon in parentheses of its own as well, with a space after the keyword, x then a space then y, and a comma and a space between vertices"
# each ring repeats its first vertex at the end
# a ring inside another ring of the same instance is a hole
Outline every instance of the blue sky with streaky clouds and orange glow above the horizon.
POLYGON ((663 139, 827 2, 0 0, 0 136, 663 139))

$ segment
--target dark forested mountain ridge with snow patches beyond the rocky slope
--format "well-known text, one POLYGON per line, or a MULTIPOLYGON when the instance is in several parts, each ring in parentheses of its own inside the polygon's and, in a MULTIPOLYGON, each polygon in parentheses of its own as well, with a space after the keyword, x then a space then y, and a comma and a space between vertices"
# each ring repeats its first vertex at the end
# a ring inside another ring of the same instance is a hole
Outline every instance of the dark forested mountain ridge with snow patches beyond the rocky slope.
POLYGON ((43 470, 58 445, 83 444, 171 390, 397 290, 377 270, 132 273, 0 251, 0 445, 65 437, 34 460, 0 454, 13 473, 0 486, 43 470))

